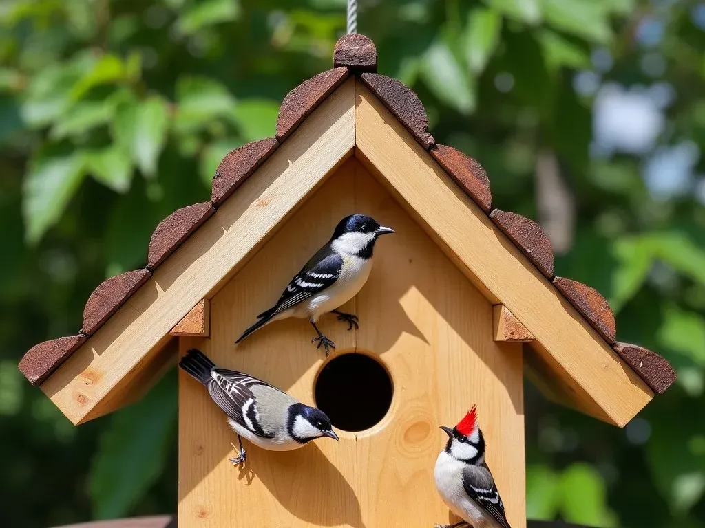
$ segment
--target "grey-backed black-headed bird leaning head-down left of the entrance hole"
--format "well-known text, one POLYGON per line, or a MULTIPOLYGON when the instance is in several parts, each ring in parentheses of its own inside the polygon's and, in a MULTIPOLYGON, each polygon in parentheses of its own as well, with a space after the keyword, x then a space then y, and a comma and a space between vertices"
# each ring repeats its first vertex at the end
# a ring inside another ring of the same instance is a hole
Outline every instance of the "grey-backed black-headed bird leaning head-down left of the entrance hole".
POLYGON ((218 368, 195 348, 178 365, 204 384, 213 401, 228 415, 228 423, 240 441, 240 455, 230 459, 233 465, 245 462, 241 436, 269 451, 298 449, 321 436, 339 440, 322 410, 296 401, 262 379, 218 368))

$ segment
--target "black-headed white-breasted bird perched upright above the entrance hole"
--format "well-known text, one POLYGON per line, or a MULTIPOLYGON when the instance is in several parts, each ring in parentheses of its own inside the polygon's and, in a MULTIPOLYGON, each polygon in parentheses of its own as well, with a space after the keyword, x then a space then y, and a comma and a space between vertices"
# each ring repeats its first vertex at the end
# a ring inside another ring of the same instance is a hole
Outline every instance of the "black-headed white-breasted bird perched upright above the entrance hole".
POLYGON ((257 315, 259 320, 235 343, 269 322, 290 317, 307 318, 318 334, 312 342, 319 341, 317 348, 323 345, 328 356, 329 348, 336 348, 336 345, 318 329, 317 320, 324 313, 332 312, 348 323, 348 330, 358 327, 356 315, 339 312, 336 308, 350 301, 364 286, 372 269, 374 243, 383 234, 393 232, 369 216, 343 218, 333 237, 291 279, 276 304, 257 315))

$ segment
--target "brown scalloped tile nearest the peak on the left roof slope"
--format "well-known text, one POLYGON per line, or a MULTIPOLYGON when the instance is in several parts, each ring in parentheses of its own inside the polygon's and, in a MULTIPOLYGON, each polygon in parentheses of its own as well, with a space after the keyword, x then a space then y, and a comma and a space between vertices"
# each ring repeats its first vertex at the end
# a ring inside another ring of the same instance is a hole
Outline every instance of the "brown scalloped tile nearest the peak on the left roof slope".
POLYGON ((305 80, 286 94, 276 118, 276 140, 281 143, 348 77, 348 68, 334 68, 305 80))

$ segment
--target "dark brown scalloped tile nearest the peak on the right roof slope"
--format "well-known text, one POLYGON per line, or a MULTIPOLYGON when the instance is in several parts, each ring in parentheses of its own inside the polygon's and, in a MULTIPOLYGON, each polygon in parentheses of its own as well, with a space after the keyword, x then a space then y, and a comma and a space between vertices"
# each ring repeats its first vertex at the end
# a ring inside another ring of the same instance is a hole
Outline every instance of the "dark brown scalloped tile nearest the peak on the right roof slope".
POLYGON ((435 141, 427 131, 429 120, 426 116, 426 108, 414 92, 400 81, 379 73, 363 73, 360 80, 411 132, 424 149, 431 148, 435 141))

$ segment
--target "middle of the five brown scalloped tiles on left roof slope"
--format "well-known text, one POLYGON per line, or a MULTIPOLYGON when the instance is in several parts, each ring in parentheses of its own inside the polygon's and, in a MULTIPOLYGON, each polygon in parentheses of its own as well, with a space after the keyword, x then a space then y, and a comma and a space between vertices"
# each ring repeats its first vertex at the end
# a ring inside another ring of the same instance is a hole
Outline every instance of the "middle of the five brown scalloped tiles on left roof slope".
POLYGON ((154 271, 216 210, 209 201, 175 210, 159 222, 149 240, 147 268, 154 271))

